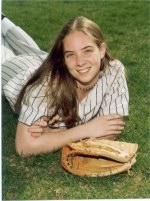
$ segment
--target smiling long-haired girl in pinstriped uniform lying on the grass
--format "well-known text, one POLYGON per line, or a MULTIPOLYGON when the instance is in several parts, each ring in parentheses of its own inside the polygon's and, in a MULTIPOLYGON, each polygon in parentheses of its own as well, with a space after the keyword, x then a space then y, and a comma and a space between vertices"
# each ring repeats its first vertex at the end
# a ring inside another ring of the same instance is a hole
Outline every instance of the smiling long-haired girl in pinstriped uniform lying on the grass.
POLYGON ((5 96, 19 114, 18 154, 121 133, 129 102, 124 66, 108 52, 97 24, 85 17, 68 21, 49 54, 6 17, 2 33, 13 52, 7 58, 4 51, 2 76, 5 96))

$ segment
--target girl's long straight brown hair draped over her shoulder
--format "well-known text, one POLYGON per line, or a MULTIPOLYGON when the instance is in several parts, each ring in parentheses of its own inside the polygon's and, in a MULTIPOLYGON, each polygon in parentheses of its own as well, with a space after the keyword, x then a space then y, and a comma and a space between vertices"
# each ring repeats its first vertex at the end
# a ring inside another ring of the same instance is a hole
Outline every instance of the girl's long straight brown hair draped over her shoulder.
MULTIPOLYGON (((82 16, 69 20, 60 31, 46 60, 20 92, 15 105, 17 113, 20 112, 21 101, 25 95, 26 88, 28 86, 36 87, 47 75, 50 75, 47 93, 45 94, 47 96, 48 110, 54 109, 52 116, 60 113, 63 122, 68 128, 74 126, 79 120, 76 82, 65 65, 63 53, 64 38, 76 30, 82 31, 91 37, 98 47, 104 42, 100 28, 93 21, 82 16)), ((104 70, 110 60, 113 60, 113 57, 106 49, 105 56, 101 60, 100 70, 104 70)))

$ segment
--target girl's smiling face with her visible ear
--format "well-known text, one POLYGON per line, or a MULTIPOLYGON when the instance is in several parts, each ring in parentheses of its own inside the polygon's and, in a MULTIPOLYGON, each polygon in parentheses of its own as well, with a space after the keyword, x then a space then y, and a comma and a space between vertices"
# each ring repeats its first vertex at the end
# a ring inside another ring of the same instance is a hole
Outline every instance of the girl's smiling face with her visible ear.
POLYGON ((99 48, 88 35, 75 31, 64 38, 63 48, 66 66, 78 86, 88 87, 95 83, 105 55, 105 43, 99 48))

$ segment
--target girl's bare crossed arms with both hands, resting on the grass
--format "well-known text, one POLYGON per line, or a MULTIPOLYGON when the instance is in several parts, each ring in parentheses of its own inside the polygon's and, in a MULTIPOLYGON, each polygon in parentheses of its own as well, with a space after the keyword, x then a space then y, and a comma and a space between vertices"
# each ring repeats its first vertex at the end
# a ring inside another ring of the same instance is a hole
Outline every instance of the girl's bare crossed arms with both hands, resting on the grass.
POLYGON ((15 144, 19 155, 53 152, 69 142, 90 137, 115 139, 125 126, 122 116, 107 115, 74 128, 54 130, 48 128, 45 118, 31 126, 18 122, 15 144))

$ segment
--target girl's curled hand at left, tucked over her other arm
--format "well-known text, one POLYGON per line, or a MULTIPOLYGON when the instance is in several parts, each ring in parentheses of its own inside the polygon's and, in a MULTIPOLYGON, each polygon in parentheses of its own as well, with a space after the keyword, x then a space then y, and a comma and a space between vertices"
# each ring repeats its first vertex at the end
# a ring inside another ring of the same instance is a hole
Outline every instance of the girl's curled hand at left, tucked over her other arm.
POLYGON ((41 117, 38 121, 34 122, 29 128, 28 131, 31 133, 32 137, 40 137, 41 135, 48 133, 49 127, 47 124, 47 117, 41 117))

